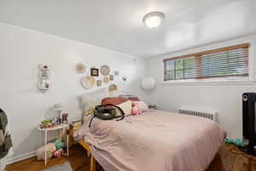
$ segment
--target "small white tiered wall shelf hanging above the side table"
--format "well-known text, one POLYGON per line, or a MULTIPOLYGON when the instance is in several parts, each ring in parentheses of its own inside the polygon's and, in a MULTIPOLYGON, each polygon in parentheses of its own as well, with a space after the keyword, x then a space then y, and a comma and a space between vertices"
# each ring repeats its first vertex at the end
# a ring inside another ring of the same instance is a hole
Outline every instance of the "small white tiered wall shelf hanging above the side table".
POLYGON ((49 80, 49 66, 45 65, 45 64, 40 64, 38 66, 38 90, 41 93, 46 93, 50 88, 51 88, 51 84, 50 84, 50 80, 49 80))

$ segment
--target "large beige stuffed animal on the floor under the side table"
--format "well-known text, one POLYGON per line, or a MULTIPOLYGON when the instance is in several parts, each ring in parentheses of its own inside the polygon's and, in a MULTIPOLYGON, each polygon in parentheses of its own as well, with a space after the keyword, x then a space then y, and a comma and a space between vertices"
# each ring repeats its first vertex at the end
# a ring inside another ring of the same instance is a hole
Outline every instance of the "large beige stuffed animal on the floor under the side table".
POLYGON ((55 143, 49 143, 47 145, 44 145, 44 146, 38 148, 38 150, 37 150, 38 160, 44 160, 45 148, 46 148, 47 160, 49 160, 51 157, 53 157, 53 153, 54 153, 54 151, 56 151, 55 143))

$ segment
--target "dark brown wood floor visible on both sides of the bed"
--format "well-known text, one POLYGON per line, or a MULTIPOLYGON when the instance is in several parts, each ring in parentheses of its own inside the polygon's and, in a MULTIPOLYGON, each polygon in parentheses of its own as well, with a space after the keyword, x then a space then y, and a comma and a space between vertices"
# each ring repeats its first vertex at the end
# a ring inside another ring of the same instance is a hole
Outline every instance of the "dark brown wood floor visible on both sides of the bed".
MULTIPOLYGON (((80 145, 73 145, 69 157, 54 158, 49 161, 47 167, 66 161, 71 163, 73 171, 89 171, 90 159, 80 145)), ((7 171, 39 171, 42 168, 45 168, 44 162, 37 161, 36 157, 32 157, 10 164, 7 171)), ((96 171, 104 170, 97 164, 96 171)), ((220 148, 207 171, 256 171, 256 157, 241 153, 235 145, 226 144, 220 148)))

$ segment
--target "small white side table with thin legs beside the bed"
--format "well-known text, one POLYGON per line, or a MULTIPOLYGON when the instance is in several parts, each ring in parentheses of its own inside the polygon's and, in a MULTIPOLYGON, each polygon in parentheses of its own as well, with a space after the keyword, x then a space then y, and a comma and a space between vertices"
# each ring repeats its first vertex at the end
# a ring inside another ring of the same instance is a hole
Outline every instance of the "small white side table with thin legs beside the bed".
POLYGON ((62 134, 65 133, 66 131, 66 134, 67 134, 67 153, 63 153, 63 155, 67 156, 68 157, 68 152, 69 152, 69 149, 68 149, 68 139, 69 139, 69 134, 68 134, 68 124, 61 124, 61 125, 58 125, 58 126, 55 126, 54 128, 39 128, 38 127, 38 130, 39 130, 39 145, 40 147, 45 145, 45 150, 44 150, 44 164, 47 165, 47 148, 46 148, 46 145, 48 143, 48 132, 49 131, 55 131, 55 138, 56 140, 62 140, 62 134), (44 137, 44 142, 42 142, 43 140, 43 137, 44 137))

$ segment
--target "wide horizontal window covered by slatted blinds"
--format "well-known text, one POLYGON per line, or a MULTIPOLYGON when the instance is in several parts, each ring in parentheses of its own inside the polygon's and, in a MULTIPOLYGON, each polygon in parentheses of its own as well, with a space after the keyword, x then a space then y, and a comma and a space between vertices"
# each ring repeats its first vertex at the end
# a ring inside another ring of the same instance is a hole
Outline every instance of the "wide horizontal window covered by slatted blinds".
POLYGON ((248 77, 249 43, 164 60, 164 80, 248 77))

